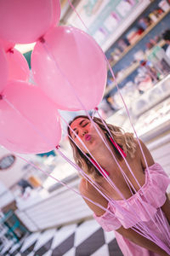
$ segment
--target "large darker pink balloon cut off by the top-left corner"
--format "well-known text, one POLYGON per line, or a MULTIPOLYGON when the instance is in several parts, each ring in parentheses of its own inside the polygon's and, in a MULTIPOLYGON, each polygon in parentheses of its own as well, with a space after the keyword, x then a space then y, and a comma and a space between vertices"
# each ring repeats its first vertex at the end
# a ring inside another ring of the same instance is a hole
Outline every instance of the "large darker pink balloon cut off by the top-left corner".
MULTIPOLYGON (((53 1, 1 0, 0 38, 20 44, 37 41, 54 26, 53 1)), ((56 10, 58 12, 60 9, 56 10)))

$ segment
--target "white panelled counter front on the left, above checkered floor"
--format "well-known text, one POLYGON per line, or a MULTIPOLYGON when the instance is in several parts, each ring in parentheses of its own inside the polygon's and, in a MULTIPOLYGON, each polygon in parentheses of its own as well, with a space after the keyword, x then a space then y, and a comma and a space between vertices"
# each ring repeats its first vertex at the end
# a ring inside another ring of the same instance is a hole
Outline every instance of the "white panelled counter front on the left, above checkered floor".
MULTIPOLYGON (((69 185, 77 189, 78 183, 79 179, 69 185)), ((31 231, 92 218, 92 211, 88 209, 82 196, 65 187, 55 190, 45 200, 15 213, 31 231)))

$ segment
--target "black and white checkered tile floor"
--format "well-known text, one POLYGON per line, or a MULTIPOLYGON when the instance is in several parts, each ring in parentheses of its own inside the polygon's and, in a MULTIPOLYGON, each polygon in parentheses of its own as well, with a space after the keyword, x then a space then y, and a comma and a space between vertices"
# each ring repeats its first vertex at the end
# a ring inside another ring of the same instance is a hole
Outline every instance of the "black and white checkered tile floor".
POLYGON ((60 229, 32 233, 20 248, 11 248, 15 256, 122 256, 114 232, 105 232, 93 219, 60 229))

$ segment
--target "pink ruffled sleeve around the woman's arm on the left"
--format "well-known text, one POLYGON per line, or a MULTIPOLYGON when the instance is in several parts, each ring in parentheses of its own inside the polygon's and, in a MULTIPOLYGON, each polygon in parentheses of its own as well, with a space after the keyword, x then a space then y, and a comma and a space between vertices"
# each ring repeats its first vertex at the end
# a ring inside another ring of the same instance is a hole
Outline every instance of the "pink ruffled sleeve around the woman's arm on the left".
POLYGON ((111 213, 105 212, 100 217, 96 216, 96 214, 94 213, 94 218, 97 220, 97 222, 103 228, 103 230, 105 230, 106 232, 118 230, 122 226, 122 224, 120 223, 120 221, 116 218, 116 216, 112 212, 113 209, 112 209, 110 203, 108 203, 107 210, 111 211, 111 213))

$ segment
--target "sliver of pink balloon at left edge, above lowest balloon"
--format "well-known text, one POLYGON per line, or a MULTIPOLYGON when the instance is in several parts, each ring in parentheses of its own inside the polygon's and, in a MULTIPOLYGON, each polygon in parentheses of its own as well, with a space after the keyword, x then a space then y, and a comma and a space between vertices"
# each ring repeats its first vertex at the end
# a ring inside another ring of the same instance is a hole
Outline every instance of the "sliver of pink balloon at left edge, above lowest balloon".
POLYGON ((8 79, 8 62, 5 52, 0 48, 0 94, 7 84, 8 79))

